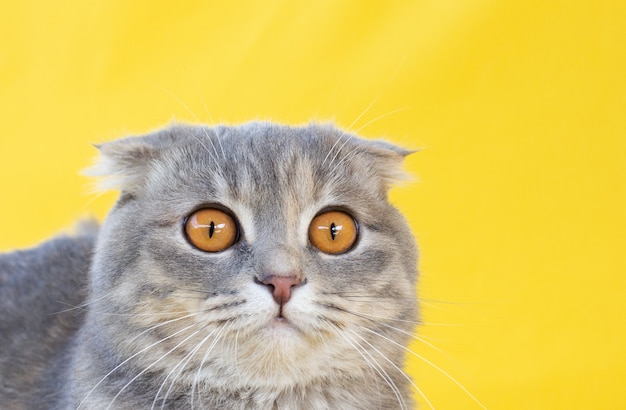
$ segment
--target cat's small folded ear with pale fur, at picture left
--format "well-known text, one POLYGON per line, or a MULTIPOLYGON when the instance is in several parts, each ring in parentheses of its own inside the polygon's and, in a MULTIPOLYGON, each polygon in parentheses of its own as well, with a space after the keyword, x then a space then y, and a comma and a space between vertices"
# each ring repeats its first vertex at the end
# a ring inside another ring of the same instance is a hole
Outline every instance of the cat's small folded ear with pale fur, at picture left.
POLYGON ((96 178, 96 191, 139 194, 148 175, 147 167, 157 157, 154 144, 146 138, 129 137, 95 147, 100 156, 83 174, 96 178))

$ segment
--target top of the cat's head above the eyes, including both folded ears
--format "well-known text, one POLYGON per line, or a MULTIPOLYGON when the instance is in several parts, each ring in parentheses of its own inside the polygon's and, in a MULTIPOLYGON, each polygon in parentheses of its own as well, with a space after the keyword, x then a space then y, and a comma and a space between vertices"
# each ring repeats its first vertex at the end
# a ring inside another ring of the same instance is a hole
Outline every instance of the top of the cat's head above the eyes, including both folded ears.
POLYGON ((330 125, 272 123, 175 125, 105 144, 101 152, 97 174, 139 200, 276 210, 324 201, 386 203, 408 153, 330 125))

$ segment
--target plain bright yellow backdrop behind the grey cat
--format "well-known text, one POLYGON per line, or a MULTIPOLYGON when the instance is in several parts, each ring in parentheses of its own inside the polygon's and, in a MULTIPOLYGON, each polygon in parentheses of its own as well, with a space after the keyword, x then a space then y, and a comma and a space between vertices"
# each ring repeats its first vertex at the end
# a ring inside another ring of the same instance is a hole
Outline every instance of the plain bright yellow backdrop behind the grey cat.
MULTIPOLYGON (((625 2, 5 3, 0 249, 104 217, 91 143, 334 120, 424 148, 393 192, 441 349, 417 353, 490 409, 626 408, 625 2)), ((480 408, 409 368, 435 408, 480 408)))

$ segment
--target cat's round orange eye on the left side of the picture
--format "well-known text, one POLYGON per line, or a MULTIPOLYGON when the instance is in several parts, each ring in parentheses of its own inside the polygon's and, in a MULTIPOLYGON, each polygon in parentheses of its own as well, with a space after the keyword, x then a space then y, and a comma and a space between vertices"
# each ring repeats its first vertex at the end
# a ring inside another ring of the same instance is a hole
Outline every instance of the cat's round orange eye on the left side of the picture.
POLYGON ((237 224, 224 211, 200 209, 187 218, 185 233, 196 248, 205 252, 221 252, 237 241, 237 224))

